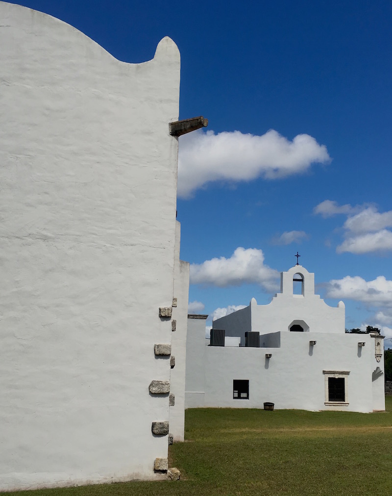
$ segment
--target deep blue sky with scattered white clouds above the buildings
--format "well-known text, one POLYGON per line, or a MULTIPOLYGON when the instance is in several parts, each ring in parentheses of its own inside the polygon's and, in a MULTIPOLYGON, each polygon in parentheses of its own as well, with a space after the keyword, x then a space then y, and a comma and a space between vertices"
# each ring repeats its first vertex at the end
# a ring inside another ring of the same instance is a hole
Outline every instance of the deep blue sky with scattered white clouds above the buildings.
POLYGON ((298 250, 346 327, 392 338, 392 2, 17 3, 125 62, 177 44, 180 119, 209 119, 179 138, 190 311, 269 303, 298 250))

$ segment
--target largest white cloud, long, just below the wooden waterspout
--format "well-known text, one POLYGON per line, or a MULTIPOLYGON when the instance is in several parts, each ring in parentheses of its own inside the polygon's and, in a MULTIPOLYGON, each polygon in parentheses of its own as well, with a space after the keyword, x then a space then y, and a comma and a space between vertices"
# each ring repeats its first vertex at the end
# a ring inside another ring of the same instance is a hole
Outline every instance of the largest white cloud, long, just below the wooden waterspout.
POLYGON ((240 131, 198 131, 181 137, 177 193, 182 198, 213 181, 278 179, 305 172, 312 163, 327 163, 330 156, 308 134, 292 141, 274 129, 261 136, 240 131))

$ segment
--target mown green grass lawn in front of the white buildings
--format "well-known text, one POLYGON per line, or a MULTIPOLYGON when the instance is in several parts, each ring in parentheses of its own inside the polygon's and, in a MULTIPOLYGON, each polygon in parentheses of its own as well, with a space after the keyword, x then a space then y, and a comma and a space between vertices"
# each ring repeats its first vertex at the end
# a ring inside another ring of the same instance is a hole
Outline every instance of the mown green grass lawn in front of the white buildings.
MULTIPOLYGON (((392 396, 386 413, 201 408, 170 447, 176 482, 23 491, 18 496, 392 495, 392 396)), ((3 493, 12 494, 12 493, 3 493)), ((15 495, 15 493, 13 493, 15 495)))

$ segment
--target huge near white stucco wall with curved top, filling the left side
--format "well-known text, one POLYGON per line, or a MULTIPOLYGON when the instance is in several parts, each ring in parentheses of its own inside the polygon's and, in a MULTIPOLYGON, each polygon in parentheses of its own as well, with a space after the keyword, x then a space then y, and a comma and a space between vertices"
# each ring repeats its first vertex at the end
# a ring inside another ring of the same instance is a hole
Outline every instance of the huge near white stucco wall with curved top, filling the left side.
POLYGON ((0 490, 155 478, 177 47, 128 64, 48 15, 0 16, 0 490))

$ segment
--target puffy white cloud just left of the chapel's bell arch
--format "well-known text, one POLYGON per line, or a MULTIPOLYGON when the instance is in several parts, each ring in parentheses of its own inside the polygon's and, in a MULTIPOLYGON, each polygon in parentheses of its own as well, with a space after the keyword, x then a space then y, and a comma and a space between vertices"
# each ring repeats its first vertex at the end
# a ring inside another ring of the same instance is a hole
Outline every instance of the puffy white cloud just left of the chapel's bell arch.
POLYGON ((190 266, 191 284, 218 287, 260 284, 267 291, 278 288, 279 272, 264 264, 264 254, 257 248, 236 248, 230 258, 221 256, 190 266))

